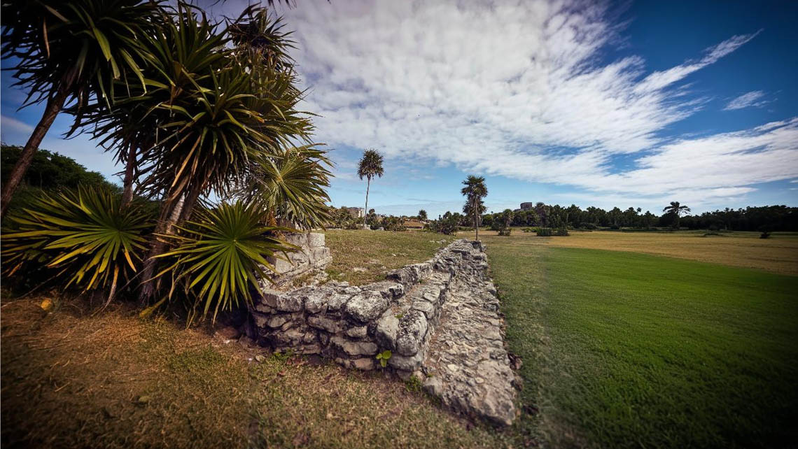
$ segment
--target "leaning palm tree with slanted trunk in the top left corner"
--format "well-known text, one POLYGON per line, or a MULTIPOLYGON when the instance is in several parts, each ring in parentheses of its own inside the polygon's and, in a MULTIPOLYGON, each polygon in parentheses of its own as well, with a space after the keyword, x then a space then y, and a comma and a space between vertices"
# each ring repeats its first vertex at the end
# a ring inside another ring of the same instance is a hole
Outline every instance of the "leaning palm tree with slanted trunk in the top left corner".
POLYGON ((14 58, 14 85, 26 89, 23 107, 45 110, 2 190, 6 215, 25 171, 56 116, 75 104, 75 124, 92 98, 111 105, 113 81, 134 75, 151 55, 141 37, 159 23, 160 0, 14 0, 2 4, 2 57, 14 58))

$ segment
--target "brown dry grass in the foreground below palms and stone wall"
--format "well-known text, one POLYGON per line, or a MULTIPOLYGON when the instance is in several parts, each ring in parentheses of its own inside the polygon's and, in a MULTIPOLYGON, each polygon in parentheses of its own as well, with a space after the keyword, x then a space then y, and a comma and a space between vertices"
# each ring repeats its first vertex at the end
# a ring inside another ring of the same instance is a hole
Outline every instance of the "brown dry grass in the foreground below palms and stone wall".
POLYGON ((381 373, 77 302, 2 303, 3 447, 497 447, 381 373))

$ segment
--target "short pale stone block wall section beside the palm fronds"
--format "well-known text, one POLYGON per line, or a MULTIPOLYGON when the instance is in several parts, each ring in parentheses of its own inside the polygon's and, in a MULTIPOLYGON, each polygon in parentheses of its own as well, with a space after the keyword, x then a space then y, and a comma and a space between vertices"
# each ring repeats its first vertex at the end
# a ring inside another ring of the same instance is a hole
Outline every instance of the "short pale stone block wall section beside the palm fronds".
POLYGON ((332 260, 330 248, 325 246, 324 234, 320 232, 286 234, 283 240, 299 246, 300 249, 288 253, 288 261, 267 258, 267 262, 275 266, 278 273, 272 279, 278 286, 313 270, 324 270, 332 260))

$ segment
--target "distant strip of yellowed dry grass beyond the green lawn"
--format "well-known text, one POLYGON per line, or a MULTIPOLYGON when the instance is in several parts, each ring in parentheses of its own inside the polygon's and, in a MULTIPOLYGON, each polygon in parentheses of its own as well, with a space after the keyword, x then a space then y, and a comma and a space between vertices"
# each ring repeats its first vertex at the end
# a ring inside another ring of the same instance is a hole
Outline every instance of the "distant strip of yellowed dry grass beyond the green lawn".
POLYGON ((520 229, 513 229, 510 237, 498 237, 495 231, 486 231, 484 234, 488 244, 494 238, 508 238, 514 245, 630 251, 757 268, 780 274, 798 274, 798 235, 794 234, 775 233, 771 238, 759 238, 758 232, 729 232, 705 237, 705 231, 571 231, 568 237, 537 237, 534 233, 524 233, 520 229))

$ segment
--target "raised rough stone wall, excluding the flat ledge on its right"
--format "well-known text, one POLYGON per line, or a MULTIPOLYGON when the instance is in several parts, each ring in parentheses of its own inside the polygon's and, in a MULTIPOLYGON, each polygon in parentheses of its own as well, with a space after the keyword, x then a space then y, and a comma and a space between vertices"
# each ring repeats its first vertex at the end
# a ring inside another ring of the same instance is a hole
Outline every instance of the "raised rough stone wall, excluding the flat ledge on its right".
POLYGON ((365 286, 328 282, 282 292, 263 285, 253 313, 259 342, 365 370, 375 368, 375 355, 389 349, 391 368, 415 372, 424 361, 452 278, 464 270, 470 273, 474 262, 487 270, 479 245, 452 243, 427 262, 393 270, 385 281, 365 286), (472 251, 474 247, 479 250, 472 251))

